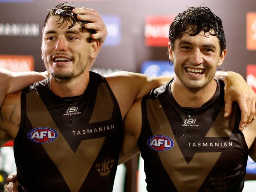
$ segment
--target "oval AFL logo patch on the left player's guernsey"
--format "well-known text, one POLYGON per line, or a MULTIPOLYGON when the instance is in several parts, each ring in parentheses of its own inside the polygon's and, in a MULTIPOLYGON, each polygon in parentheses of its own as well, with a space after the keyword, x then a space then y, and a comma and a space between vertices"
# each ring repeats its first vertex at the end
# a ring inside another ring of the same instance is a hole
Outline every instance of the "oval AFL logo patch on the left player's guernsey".
POLYGON ((58 137, 58 132, 49 127, 38 127, 28 133, 28 138, 36 143, 48 143, 58 137))

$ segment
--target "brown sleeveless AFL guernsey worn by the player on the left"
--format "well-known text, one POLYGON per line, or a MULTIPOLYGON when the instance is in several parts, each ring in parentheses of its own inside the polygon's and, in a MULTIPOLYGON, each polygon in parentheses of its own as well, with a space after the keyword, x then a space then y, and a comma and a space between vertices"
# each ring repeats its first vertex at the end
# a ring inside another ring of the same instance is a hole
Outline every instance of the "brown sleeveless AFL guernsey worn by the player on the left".
POLYGON ((94 72, 81 96, 59 98, 46 79, 23 90, 14 140, 19 191, 111 192, 121 126, 117 100, 94 72))

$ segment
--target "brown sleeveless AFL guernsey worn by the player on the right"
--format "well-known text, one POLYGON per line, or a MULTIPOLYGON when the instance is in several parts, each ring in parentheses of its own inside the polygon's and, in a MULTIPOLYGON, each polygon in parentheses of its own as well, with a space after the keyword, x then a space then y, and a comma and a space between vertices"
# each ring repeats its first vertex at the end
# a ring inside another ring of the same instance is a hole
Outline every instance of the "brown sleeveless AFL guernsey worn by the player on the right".
MULTIPOLYGON (((200 108, 184 108, 171 82, 142 100, 138 140, 149 192, 241 192, 248 147, 238 130, 240 111, 225 119, 224 85, 200 108)), ((193 102, 193 101, 191 101, 193 102)))

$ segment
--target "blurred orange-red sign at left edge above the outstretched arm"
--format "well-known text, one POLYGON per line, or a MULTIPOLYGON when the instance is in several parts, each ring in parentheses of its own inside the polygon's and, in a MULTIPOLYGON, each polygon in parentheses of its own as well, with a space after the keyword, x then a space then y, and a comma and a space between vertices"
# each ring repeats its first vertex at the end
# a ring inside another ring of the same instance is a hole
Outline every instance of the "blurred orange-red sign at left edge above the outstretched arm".
POLYGON ((13 72, 33 71, 32 55, 0 55, 0 67, 13 72))

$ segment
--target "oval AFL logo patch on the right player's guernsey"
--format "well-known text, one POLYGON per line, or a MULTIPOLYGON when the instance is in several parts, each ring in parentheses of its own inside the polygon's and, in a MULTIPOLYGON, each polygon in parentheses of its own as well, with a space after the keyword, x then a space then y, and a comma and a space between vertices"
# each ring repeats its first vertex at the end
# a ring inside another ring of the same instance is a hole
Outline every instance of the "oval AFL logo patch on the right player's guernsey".
POLYGON ((165 135, 153 135, 148 139, 148 147, 156 151, 166 151, 174 146, 174 141, 165 135))

